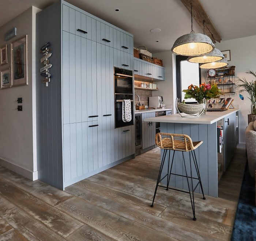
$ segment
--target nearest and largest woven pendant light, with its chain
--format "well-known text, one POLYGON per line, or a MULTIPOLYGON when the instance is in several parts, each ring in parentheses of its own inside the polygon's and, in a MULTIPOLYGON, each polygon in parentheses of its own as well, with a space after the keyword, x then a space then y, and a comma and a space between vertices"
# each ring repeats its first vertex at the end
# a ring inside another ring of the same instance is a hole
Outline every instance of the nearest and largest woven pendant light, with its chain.
POLYGON ((214 50, 214 44, 211 39, 204 34, 193 31, 192 4, 191 4, 191 32, 182 35, 174 42, 172 51, 175 54, 184 56, 198 56, 208 54, 214 50))

